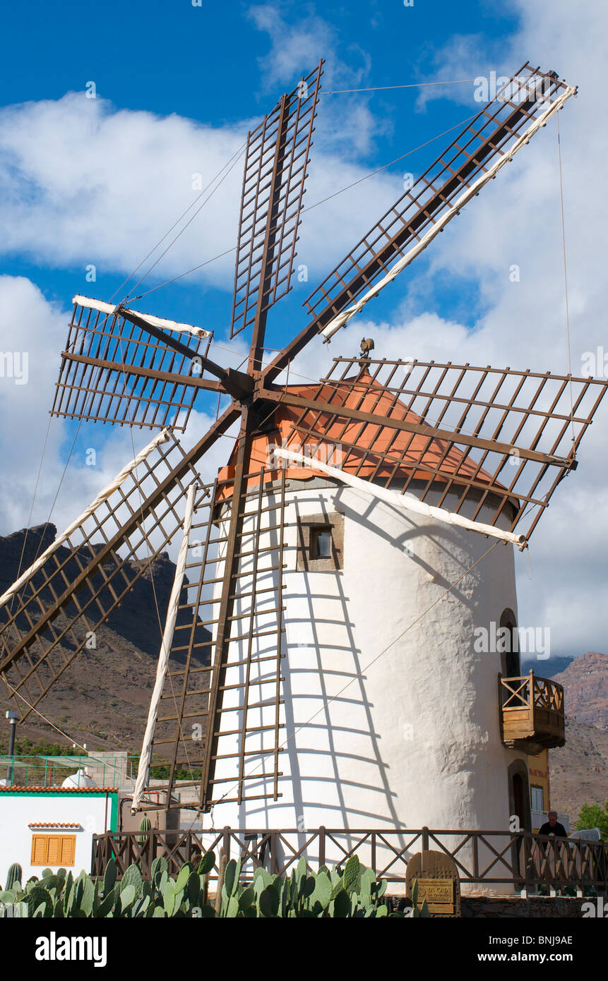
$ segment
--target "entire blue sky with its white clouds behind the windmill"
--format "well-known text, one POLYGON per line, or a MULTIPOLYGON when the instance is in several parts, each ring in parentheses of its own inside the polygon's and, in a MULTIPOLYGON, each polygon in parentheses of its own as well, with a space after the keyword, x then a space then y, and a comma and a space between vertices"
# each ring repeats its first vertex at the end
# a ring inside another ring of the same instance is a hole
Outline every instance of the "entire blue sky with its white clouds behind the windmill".
MULTIPOLYGON (((29 354, 27 386, 0 386, 0 534, 29 520, 59 352, 76 292, 109 299, 193 202, 283 91, 327 61, 325 91, 451 82, 513 73, 529 59, 580 85, 560 114, 571 298, 571 358, 608 352, 605 205, 588 188, 605 168, 601 100, 608 12, 600 0, 445 0, 306 4, 99 2, 11 5, 0 64, 0 349, 29 354), (10 39, 7 43, 6 38, 10 39), (94 82, 95 99, 86 97, 94 82), (85 274, 95 266, 96 281, 85 274), (14 439, 19 419, 21 438, 14 439)), ((322 95, 305 204, 366 178, 478 111, 471 82, 322 95)), ((304 326, 305 295, 449 142, 434 140, 380 174, 304 212, 297 262, 305 284, 272 311, 269 345, 304 326)), ((154 288, 234 245, 236 169, 138 287, 154 288)), ((557 131, 542 130, 444 235, 331 345, 310 345, 300 372, 373 336, 380 356, 414 355, 562 373, 567 367, 557 131), (513 264, 521 269, 510 280, 513 264)), ((228 342, 232 256, 134 303, 207 327, 228 342)), ((7 380, 3 379, 3 383, 7 380)), ((10 380, 9 380, 10 381, 10 380)), ((198 405, 193 436, 206 428, 198 405)), ((583 440, 580 468, 560 488, 518 558, 520 621, 551 625, 556 653, 604 644, 608 536, 606 413, 583 440), (556 562, 556 542, 560 561, 556 562), (531 572, 530 572, 531 568, 531 572), (529 578, 533 576, 533 578, 529 578), (573 583, 578 590, 573 592, 573 583)), ((73 425, 49 431, 32 522, 64 527, 132 455, 125 431, 83 424, 63 476, 73 425), (99 451, 96 471, 83 462, 99 451), (61 492, 55 501, 55 492, 61 492)), ((146 437, 137 435, 138 444, 146 437)), ((224 462, 226 445, 210 460, 224 462)))

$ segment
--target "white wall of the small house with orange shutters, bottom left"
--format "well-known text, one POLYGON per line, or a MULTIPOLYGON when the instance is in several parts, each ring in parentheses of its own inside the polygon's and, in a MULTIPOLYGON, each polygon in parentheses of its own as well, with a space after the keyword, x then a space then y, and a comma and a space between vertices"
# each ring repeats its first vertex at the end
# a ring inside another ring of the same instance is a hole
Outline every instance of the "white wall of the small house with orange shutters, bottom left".
POLYGON ((112 798, 113 795, 106 796, 103 792, 93 795, 56 790, 48 793, 0 791, 0 883, 6 884, 7 872, 13 862, 22 866, 24 883, 32 875, 40 877, 44 866, 30 863, 33 834, 75 834, 75 861, 70 867, 75 876, 82 869, 90 872, 93 834, 112 829, 112 798), (40 821, 80 824, 82 830, 28 827, 29 823, 40 821))

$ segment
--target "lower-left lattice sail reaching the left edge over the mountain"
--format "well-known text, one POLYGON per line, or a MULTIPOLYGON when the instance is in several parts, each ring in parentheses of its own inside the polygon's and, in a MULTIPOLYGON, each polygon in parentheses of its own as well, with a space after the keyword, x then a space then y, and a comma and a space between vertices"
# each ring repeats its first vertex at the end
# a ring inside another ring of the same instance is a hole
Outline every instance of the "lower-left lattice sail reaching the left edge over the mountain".
POLYGON ((0 675, 26 718, 179 531, 197 478, 169 432, 152 440, 34 562, 0 606, 0 675))

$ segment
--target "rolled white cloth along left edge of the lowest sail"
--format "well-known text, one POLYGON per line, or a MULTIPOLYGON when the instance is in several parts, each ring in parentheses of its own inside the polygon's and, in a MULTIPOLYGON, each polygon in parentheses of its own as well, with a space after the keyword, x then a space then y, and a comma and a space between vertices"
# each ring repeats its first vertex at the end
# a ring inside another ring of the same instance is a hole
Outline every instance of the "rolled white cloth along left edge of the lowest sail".
POLYGON ((135 814, 136 811, 138 811, 141 798, 143 797, 143 792, 145 790, 147 769, 150 760, 150 750, 152 749, 152 738, 154 736, 154 727, 156 726, 156 718, 158 715, 158 706, 160 704, 160 697, 162 695, 165 678, 167 676, 167 668, 169 666, 169 652, 171 651, 171 645, 173 643, 175 623, 180 605, 180 595, 182 594, 182 586, 184 584, 184 575, 186 572, 186 559, 188 557, 190 533, 193 526, 194 490, 195 487, 193 484, 191 484, 190 488, 188 489, 188 496, 186 498, 184 538, 182 539, 182 544, 180 545, 180 553, 178 555, 178 560, 175 567, 173 588, 171 590, 171 595, 169 596, 169 606, 167 607, 165 629, 163 631, 162 642, 160 645, 158 664, 156 665, 156 681, 154 682, 152 697, 150 698, 147 723, 143 734, 143 742, 141 744, 141 754, 139 755, 138 779, 136 781, 133 801, 131 804, 132 814, 135 814))

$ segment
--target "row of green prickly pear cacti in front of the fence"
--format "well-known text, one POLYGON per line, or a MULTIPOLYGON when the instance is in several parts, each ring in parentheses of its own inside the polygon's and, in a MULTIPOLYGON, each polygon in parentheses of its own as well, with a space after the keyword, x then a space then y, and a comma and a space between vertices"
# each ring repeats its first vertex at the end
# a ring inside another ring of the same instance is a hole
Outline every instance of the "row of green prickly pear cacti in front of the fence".
MULTIPOLYGON (((142 834, 144 833, 141 829, 142 834)), ((55 874, 44 869, 42 878, 35 876, 22 887, 22 869, 18 864, 9 870, 5 892, 0 891, 0 917, 4 907, 24 908, 31 918, 49 917, 382 917, 428 916, 426 904, 414 904, 407 912, 391 912, 383 898, 386 880, 376 880, 372 869, 361 865, 357 856, 344 869, 330 870, 323 865, 312 872, 304 857, 291 875, 278 875, 264 868, 255 870, 250 883, 241 882, 241 859, 228 859, 223 852, 217 862, 218 881, 215 905, 208 902, 209 872, 216 864, 215 854, 206 852, 195 865, 185 862, 177 877, 169 874, 167 859, 153 860, 149 879, 142 867, 134 863, 117 881, 117 867, 108 862, 103 876, 94 879, 84 870, 75 879, 72 872, 60 869, 55 874)))

